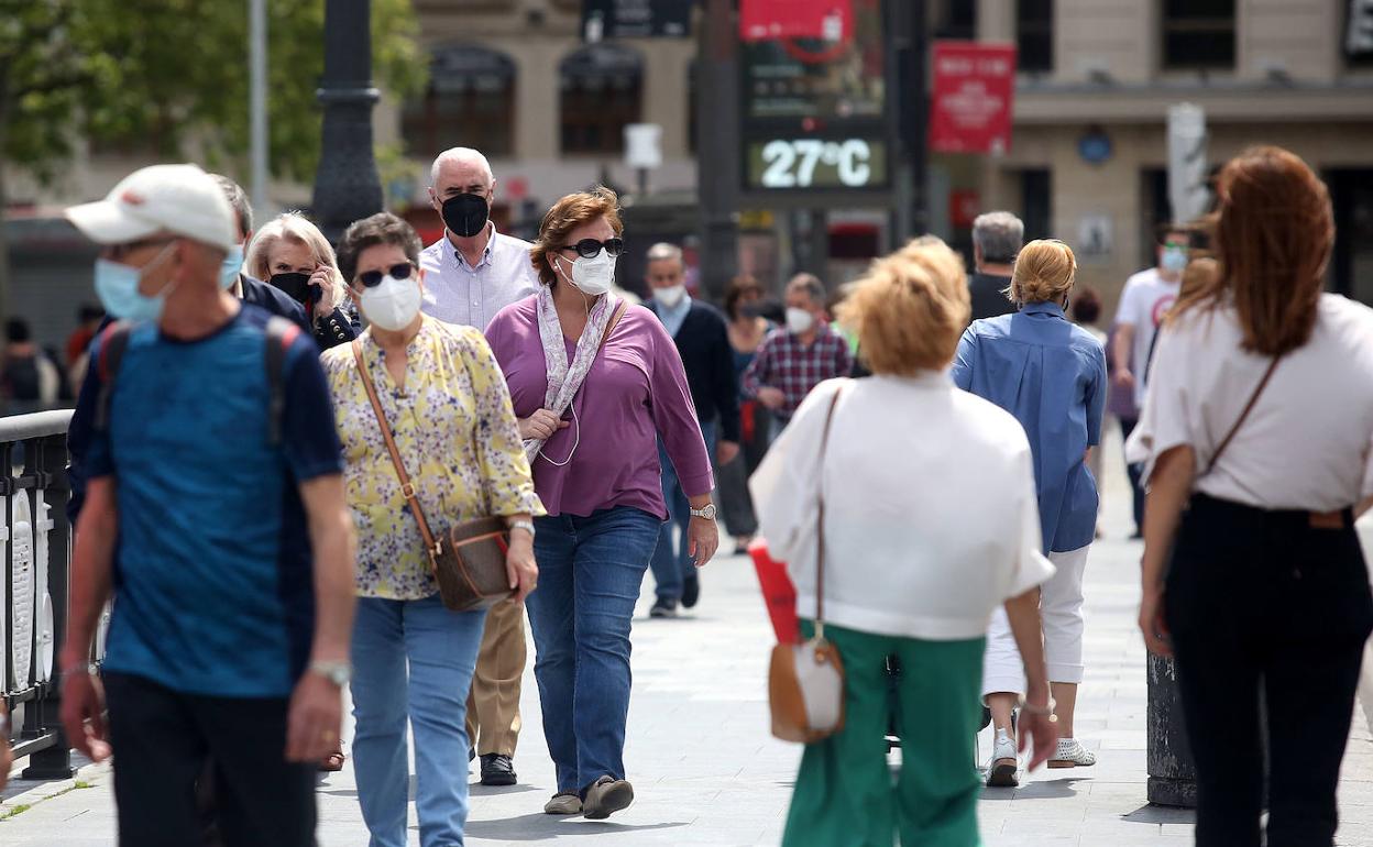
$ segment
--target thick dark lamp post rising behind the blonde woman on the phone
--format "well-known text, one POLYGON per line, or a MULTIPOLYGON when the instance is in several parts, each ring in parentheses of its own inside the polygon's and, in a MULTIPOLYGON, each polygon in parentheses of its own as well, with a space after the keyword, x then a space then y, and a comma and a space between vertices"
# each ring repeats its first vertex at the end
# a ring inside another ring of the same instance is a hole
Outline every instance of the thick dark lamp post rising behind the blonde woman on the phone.
POLYGON ((324 107, 320 167, 314 174, 314 218, 338 243, 343 229, 382 210, 382 178, 372 154, 371 0, 325 0, 324 107))

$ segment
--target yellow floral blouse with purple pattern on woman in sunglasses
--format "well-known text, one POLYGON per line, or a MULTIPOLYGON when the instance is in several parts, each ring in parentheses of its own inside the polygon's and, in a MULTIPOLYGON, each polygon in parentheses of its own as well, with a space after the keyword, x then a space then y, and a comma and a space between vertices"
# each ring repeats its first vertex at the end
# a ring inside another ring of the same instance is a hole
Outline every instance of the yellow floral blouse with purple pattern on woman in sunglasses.
MULTIPOLYGON (((384 353, 361 335, 405 469, 430 527, 482 515, 544 515, 520 445, 505 376, 482 334, 424 317, 397 388, 384 353)), ((343 441, 343 478, 357 526, 360 597, 422 600, 438 592, 419 524, 401 494, 350 345, 321 357, 343 441)))

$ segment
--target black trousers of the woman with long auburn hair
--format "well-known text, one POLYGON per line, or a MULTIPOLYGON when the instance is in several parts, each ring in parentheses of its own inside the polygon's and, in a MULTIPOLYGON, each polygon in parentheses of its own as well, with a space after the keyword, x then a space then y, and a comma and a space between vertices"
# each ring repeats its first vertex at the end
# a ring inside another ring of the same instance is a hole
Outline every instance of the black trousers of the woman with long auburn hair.
POLYGON ((1329 847, 1373 596, 1346 512, 1192 498, 1164 596, 1197 769, 1197 847, 1259 847, 1267 701, 1267 847, 1329 847))

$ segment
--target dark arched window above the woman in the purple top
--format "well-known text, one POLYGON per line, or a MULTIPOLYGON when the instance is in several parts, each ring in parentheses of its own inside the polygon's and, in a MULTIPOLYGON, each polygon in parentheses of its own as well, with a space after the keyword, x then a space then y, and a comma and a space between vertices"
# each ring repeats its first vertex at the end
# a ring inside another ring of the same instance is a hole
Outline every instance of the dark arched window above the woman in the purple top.
POLYGON ((637 124, 644 60, 619 44, 592 44, 563 59, 562 146, 564 154, 615 155, 625 151, 625 125, 637 124))

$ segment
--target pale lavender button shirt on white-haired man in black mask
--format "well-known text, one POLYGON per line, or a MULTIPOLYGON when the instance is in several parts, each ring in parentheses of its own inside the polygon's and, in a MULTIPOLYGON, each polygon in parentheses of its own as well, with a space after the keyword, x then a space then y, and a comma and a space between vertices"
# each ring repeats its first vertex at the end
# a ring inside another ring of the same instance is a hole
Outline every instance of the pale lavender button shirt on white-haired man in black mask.
POLYGON ((496 232, 476 266, 467 264, 443 237, 420 253, 424 269, 424 299, 420 309, 449 324, 485 331, 496 313, 538 291, 538 275, 529 259, 529 242, 496 232))

